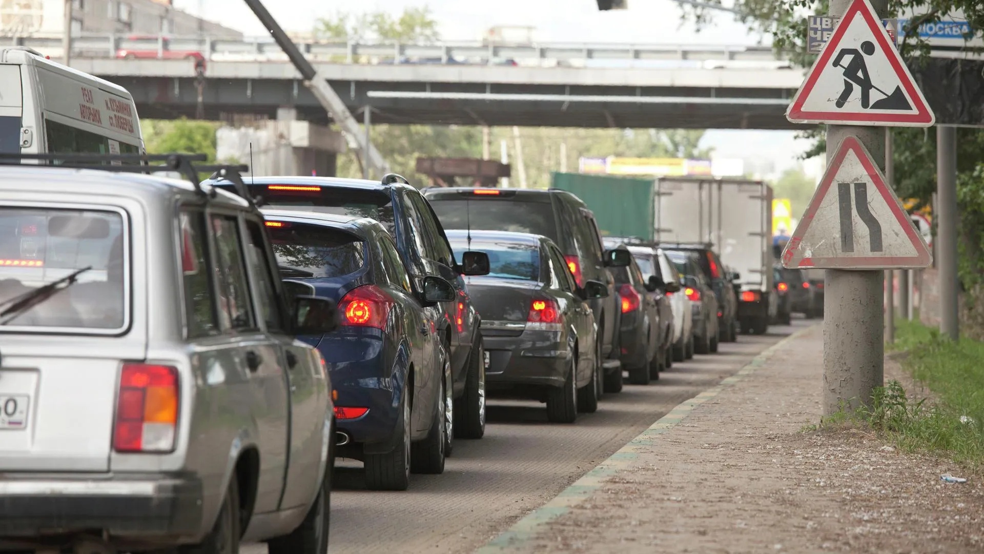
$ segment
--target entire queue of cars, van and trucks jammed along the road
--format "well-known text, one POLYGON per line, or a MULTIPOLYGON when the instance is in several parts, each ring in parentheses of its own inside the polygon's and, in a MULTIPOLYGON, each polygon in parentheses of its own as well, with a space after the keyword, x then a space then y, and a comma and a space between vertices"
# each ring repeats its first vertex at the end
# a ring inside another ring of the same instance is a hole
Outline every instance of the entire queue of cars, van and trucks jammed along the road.
POLYGON ((337 460, 399 494, 489 401, 577 425, 822 314, 762 182, 656 179, 644 241, 587 192, 244 178, 147 155, 125 89, 3 50, 0 551, 323 554, 337 460))

